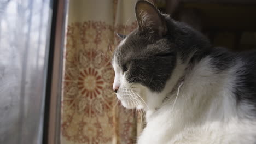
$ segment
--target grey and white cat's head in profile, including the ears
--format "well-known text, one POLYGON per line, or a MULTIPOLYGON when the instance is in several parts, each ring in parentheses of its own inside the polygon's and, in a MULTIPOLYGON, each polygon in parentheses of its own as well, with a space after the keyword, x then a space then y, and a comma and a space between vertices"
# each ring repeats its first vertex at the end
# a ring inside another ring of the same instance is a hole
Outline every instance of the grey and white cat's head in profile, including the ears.
POLYGON ((193 34, 147 1, 136 3, 135 14, 138 28, 122 35, 114 52, 113 91, 126 108, 151 109, 162 102, 181 77, 177 65, 186 61, 189 49, 183 49, 189 47, 186 43, 193 34))

